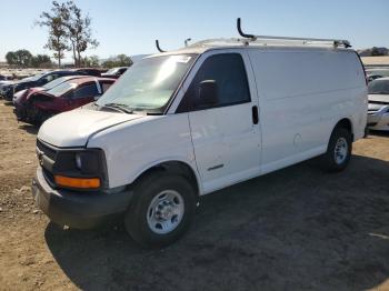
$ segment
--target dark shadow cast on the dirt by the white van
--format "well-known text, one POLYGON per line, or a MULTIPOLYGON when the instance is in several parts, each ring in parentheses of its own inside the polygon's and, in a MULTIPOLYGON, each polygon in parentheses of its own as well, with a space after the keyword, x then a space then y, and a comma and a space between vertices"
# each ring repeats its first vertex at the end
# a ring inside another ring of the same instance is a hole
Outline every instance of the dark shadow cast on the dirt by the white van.
POLYGON ((141 250, 123 227, 48 224, 58 264, 83 290, 361 290, 389 278, 389 162, 310 162, 201 199, 189 232, 141 250))

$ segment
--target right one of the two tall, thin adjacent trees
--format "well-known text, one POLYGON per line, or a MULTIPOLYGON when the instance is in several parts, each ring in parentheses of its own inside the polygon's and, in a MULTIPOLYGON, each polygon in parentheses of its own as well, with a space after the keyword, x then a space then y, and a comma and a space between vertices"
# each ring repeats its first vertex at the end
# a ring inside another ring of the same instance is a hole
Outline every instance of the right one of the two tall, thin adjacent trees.
POLYGON ((73 1, 68 1, 62 9, 62 18, 67 28, 68 38, 73 51, 74 66, 81 66, 81 52, 88 48, 97 48, 99 42, 92 38, 91 18, 82 16, 82 11, 73 1))

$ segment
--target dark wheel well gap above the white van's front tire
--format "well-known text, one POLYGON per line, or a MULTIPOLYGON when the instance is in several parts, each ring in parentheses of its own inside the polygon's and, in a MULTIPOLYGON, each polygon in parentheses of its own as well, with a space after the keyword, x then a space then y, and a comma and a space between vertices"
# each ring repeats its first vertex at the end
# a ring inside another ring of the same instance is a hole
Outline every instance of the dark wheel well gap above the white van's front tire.
POLYGON ((157 172, 169 172, 171 174, 179 174, 183 175, 184 178, 188 179, 188 181, 192 184, 196 193, 199 195, 199 184, 196 178, 196 174, 187 163, 181 162, 181 161, 168 161, 168 162, 162 162, 159 164, 153 165, 152 168, 146 170, 143 173, 141 173, 137 180, 134 181, 138 182, 139 180, 143 179, 146 175, 149 174, 154 174, 157 172))

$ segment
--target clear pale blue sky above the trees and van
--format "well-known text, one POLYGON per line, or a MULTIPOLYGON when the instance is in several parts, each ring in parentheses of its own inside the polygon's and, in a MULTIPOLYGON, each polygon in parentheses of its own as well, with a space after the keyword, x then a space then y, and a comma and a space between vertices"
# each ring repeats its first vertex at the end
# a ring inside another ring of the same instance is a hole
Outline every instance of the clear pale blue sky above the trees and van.
MULTIPOLYGON (((61 0, 59 0, 61 2, 61 0)), ((92 18, 100 46, 87 56, 101 59, 126 53, 156 52, 183 47, 183 40, 238 37, 236 19, 243 31, 282 37, 340 38, 355 49, 389 47, 388 0, 74 0, 92 18)), ((43 49, 48 32, 34 27, 51 0, 0 0, 0 61, 8 51, 43 49)), ((71 61, 71 52, 66 61, 71 61)))

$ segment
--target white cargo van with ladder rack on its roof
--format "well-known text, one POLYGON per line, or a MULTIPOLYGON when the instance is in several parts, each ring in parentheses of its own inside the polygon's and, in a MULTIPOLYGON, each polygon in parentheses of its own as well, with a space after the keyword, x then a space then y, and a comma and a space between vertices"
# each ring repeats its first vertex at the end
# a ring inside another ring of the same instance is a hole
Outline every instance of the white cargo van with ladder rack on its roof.
POLYGON ((137 242, 161 247, 200 195, 318 155, 343 170, 367 120, 357 53, 347 41, 242 36, 144 58, 97 102, 46 121, 38 205, 81 229, 123 214, 137 242))

